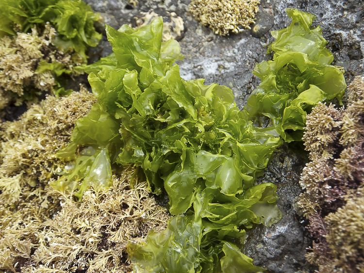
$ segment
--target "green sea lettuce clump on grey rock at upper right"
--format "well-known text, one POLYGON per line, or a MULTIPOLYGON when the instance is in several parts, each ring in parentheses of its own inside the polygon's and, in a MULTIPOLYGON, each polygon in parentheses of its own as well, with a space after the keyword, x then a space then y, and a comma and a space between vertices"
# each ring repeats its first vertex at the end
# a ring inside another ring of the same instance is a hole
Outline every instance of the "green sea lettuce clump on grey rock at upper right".
POLYGON ((274 51, 273 60, 257 64, 253 70, 262 82, 249 96, 245 111, 259 131, 292 142, 301 140, 306 111, 325 99, 336 98, 341 103, 346 82, 342 69, 330 65, 333 55, 321 28, 311 28, 315 16, 296 9, 287 9, 287 14, 292 23, 272 32, 276 40, 268 52, 274 51), (265 128, 262 119, 268 124, 265 128))

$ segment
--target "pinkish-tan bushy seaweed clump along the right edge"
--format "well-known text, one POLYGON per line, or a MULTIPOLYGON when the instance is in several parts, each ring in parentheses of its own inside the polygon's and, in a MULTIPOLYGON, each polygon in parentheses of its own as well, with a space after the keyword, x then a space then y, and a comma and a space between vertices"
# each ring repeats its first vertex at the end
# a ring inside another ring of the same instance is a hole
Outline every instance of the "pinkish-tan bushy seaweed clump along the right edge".
POLYGON ((307 253, 319 272, 364 268, 364 78, 348 88, 347 108, 318 104, 307 116, 298 208, 314 241, 307 253))

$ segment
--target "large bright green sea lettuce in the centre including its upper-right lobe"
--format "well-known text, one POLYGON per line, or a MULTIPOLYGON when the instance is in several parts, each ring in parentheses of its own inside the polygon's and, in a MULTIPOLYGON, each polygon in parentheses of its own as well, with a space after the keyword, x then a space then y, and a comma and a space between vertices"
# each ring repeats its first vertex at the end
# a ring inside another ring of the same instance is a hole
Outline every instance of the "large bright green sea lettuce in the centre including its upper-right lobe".
MULTIPOLYGON (((136 29, 107 26, 114 53, 78 68, 89 73, 98 102, 58 156, 77 162, 78 147, 107 151, 104 162, 140 166, 150 190, 169 198, 165 231, 127 247, 135 272, 265 271, 234 244, 247 229, 281 217, 276 186, 256 178, 283 141, 300 139, 306 111, 340 100, 345 89, 319 28, 311 29, 314 17, 287 12, 293 22, 275 34, 273 60, 256 66, 262 83, 243 111, 228 87, 181 78, 174 64, 181 51, 174 40, 162 42, 161 18, 136 29)), ((81 197, 91 184, 74 166, 53 186, 81 197)))

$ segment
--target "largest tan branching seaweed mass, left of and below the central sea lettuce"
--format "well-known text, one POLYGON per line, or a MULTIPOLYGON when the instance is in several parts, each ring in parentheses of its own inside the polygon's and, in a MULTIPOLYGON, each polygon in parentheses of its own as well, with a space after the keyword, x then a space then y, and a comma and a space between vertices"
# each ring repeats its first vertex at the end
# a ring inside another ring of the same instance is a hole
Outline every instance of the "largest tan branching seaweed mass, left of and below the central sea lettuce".
POLYGON ((49 186, 67 168, 54 154, 94 102, 84 89, 49 96, 1 125, 0 271, 126 272, 128 241, 165 228, 166 209, 133 167, 113 176, 109 189, 84 192, 82 203, 49 186))

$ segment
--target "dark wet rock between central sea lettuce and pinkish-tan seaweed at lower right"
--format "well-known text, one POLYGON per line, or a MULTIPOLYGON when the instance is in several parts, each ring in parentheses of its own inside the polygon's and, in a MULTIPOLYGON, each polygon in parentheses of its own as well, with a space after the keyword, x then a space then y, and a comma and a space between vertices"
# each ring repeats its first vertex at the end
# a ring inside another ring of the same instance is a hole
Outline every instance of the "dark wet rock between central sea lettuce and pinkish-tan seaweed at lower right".
POLYGON ((303 220, 293 206, 301 192, 298 181, 304 164, 304 155, 284 145, 273 155, 263 177, 259 178, 259 182, 277 185, 277 203, 283 216, 271 227, 260 225, 251 229, 243 252, 269 272, 286 273, 309 268, 304 254, 310 240, 305 236, 303 220))

